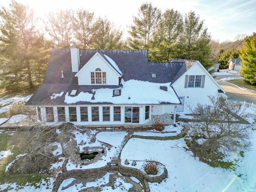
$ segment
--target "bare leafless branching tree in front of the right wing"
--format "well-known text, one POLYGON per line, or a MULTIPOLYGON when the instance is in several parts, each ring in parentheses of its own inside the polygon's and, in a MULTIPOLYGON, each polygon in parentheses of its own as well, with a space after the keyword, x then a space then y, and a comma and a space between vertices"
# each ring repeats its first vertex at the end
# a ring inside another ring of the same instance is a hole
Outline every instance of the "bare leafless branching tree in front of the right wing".
POLYGON ((195 119, 186 124, 190 149, 206 160, 218 160, 225 152, 250 150, 255 116, 221 97, 209 98, 209 104, 190 106, 195 119))

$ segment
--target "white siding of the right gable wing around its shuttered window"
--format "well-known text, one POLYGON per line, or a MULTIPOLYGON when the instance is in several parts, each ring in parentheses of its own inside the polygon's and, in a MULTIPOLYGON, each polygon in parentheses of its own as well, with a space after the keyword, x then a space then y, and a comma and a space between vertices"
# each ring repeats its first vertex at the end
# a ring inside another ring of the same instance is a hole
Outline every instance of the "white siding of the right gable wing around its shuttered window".
POLYGON ((198 63, 194 64, 187 72, 185 72, 174 84, 172 84, 178 97, 184 97, 184 110, 177 111, 177 114, 189 114, 188 105, 195 106, 197 103, 208 103, 209 95, 218 94, 220 89, 215 80, 203 69, 198 63), (205 75, 204 88, 184 88, 186 75, 205 75))

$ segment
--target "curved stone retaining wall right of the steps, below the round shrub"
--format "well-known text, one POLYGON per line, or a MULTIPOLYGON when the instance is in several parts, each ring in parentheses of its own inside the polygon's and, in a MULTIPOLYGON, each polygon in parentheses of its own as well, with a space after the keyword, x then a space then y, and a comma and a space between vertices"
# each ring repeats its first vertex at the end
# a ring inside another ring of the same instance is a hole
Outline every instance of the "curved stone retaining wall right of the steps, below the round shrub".
POLYGON ((140 180, 140 182, 144 187, 145 192, 150 191, 148 182, 161 182, 168 175, 167 169, 164 167, 164 173, 162 175, 151 177, 151 176, 148 176, 146 173, 142 172, 141 170, 121 165, 120 159, 118 160, 118 171, 124 176, 130 176, 130 177, 133 176, 133 177, 136 177, 138 180, 140 180))

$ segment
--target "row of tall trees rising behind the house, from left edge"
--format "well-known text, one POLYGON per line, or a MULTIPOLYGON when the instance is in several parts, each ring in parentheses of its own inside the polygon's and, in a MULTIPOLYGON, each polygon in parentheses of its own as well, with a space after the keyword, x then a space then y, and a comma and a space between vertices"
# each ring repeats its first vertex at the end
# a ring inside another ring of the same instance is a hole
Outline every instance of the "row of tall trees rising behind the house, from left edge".
POLYGON ((72 42, 81 49, 146 49, 149 61, 199 60, 207 70, 213 65, 211 37, 199 15, 162 13, 148 2, 133 17, 127 38, 94 12, 58 10, 35 18, 29 6, 15 0, 0 9, 0 32, 0 89, 6 90, 36 90, 52 48, 70 48, 72 42))

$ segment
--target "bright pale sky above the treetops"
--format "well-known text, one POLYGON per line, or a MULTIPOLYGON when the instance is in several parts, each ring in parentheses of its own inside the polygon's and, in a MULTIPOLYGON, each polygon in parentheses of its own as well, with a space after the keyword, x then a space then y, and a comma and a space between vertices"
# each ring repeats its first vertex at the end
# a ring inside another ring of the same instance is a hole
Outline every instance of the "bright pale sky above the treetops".
MULTIPOLYGON (((256 32, 256 0, 16 0, 30 6, 36 16, 44 17, 49 12, 60 9, 77 10, 83 8, 94 12, 95 16, 108 18, 128 34, 128 26, 133 24, 133 16, 138 16, 142 3, 151 2, 162 12, 166 9, 178 10, 181 14, 194 11, 204 20, 212 39, 224 42, 234 41, 238 34, 252 35, 256 32)), ((8 7, 11 0, 0 0, 0 5, 8 7)))

